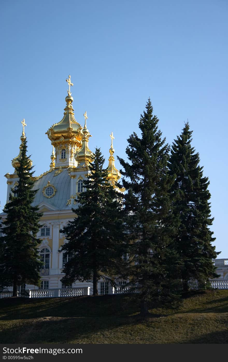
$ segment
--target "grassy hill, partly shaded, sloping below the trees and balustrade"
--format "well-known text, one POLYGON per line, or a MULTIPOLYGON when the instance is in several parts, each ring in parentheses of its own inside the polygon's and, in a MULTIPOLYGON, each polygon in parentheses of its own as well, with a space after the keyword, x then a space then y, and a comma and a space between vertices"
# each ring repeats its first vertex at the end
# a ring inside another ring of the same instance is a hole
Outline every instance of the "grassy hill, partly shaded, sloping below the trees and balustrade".
POLYGON ((0 343, 228 343, 228 290, 192 293, 138 317, 129 295, 0 299, 0 343))

